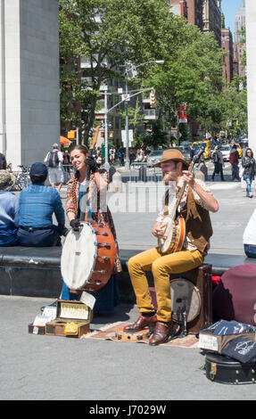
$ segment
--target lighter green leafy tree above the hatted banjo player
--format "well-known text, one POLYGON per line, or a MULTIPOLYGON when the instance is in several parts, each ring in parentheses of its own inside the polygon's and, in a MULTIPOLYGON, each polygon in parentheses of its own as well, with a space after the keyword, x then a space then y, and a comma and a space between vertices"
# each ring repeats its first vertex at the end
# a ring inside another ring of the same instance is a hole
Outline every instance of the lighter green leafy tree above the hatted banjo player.
POLYGON ((169 130, 176 127, 178 107, 184 102, 190 120, 216 129, 222 112, 218 97, 223 86, 223 51, 212 33, 203 34, 180 18, 174 23, 176 49, 166 44, 164 68, 147 77, 147 83, 156 90, 157 106, 169 130))

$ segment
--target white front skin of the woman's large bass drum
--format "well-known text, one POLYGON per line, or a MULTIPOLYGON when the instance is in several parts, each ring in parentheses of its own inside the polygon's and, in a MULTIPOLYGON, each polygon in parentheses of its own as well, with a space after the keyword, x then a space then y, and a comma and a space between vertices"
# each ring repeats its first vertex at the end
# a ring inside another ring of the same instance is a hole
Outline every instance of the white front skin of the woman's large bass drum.
POLYGON ((81 222, 78 232, 70 230, 62 247, 61 271, 70 290, 80 290, 90 279, 97 258, 97 240, 93 227, 81 222))

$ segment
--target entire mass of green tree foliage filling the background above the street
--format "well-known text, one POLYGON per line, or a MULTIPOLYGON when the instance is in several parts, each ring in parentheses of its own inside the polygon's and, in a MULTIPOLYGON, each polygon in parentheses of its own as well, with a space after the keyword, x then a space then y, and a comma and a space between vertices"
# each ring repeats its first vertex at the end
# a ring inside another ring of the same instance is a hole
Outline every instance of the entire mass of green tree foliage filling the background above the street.
MULTIPOLYGON (((140 66, 136 78, 129 78, 130 88, 153 86, 156 91, 160 116, 152 134, 145 136, 146 144, 169 141, 163 133, 176 127, 180 103, 187 103, 189 121, 199 121, 212 134, 227 128, 230 120, 238 119, 239 127, 246 127, 246 90, 241 91, 241 80, 238 88, 237 80, 225 86, 224 50, 213 33, 204 34, 169 12, 166 0, 59 3, 62 121, 81 127, 86 142, 95 124, 100 86, 111 78, 123 82, 121 66, 127 62, 164 60, 164 65, 140 66), (81 69, 81 58, 89 63, 87 68, 81 69)), ((144 115, 138 106, 128 111, 136 141, 142 141, 138 127, 144 115)))

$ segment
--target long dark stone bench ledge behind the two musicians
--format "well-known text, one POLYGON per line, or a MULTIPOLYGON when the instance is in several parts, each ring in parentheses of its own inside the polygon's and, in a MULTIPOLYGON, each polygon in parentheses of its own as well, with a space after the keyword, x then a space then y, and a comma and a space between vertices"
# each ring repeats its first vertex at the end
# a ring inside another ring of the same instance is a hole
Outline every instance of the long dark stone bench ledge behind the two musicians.
MULTIPOLYGON (((140 251, 120 250, 123 272, 119 274, 120 299, 135 301, 127 261, 140 251)), ((0 294, 56 298, 62 290, 62 247, 0 247, 0 294)), ((212 275, 222 275, 229 267, 256 263, 244 255, 209 254, 205 264, 212 266, 212 275)), ((150 286, 152 275, 148 275, 150 286)))

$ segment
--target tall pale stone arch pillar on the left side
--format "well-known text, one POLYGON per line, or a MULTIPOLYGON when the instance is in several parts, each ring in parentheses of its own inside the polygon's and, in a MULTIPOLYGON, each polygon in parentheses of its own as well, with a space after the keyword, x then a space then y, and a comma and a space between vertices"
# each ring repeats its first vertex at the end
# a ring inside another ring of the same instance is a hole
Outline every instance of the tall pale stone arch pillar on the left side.
POLYGON ((60 141, 58 0, 0 0, 0 152, 12 167, 60 141))

